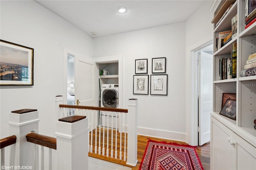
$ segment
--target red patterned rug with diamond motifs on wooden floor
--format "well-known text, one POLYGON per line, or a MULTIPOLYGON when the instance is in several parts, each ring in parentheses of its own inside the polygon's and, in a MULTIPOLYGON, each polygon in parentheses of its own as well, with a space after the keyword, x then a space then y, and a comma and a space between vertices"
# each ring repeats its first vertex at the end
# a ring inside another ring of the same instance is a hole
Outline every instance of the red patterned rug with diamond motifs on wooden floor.
POLYGON ((203 170, 195 147, 149 140, 140 170, 203 170))

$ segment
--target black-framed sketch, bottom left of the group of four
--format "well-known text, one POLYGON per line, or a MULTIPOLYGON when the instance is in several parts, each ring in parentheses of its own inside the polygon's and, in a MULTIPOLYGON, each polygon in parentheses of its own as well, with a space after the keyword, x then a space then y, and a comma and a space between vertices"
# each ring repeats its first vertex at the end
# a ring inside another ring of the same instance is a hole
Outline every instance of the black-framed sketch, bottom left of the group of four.
POLYGON ((148 75, 133 76, 133 94, 148 95, 148 75))

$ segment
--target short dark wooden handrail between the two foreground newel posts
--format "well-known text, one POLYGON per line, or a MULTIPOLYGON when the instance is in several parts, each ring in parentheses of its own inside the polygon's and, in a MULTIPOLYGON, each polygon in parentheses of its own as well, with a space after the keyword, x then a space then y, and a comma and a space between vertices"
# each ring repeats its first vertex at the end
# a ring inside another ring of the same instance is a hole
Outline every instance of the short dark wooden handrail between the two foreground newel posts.
POLYGON ((42 146, 46 146, 48 148, 57 149, 57 141, 56 138, 50 136, 44 136, 42 134, 37 134, 34 132, 30 132, 26 135, 27 141, 35 144, 40 144, 42 146))

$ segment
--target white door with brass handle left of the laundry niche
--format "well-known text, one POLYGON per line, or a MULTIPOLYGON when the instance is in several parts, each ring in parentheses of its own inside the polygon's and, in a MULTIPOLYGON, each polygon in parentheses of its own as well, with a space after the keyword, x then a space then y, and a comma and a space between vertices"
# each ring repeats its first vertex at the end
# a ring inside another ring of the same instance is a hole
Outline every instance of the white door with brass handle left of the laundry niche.
POLYGON ((95 63, 75 57, 75 105, 96 106, 95 63))

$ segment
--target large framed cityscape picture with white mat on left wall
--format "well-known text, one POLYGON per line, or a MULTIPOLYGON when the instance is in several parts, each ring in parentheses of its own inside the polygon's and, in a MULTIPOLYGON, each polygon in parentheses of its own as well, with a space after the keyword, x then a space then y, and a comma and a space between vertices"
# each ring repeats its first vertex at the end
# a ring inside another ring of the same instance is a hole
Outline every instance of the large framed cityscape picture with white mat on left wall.
POLYGON ((0 40, 0 85, 34 85, 34 49, 0 40))

